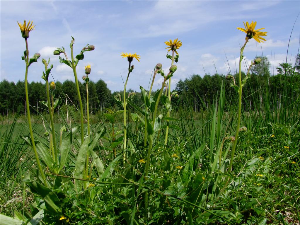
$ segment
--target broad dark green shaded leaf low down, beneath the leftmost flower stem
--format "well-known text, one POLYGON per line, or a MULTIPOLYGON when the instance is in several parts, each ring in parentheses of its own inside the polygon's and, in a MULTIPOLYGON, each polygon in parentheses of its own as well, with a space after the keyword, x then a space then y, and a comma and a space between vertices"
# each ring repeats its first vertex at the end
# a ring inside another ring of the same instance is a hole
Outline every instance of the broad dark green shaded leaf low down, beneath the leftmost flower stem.
POLYGON ((53 214, 61 214, 60 201, 57 195, 48 187, 39 184, 36 181, 23 180, 29 187, 30 190, 41 196, 45 201, 46 209, 53 214))

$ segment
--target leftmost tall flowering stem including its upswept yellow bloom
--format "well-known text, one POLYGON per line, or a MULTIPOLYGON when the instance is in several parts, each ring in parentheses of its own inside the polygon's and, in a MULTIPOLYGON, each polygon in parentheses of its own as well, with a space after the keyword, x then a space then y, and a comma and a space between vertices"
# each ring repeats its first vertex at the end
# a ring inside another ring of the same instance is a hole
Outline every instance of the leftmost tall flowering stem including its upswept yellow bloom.
MULTIPOLYGON (((26 96, 26 110, 27 110, 27 119, 28 119, 30 138, 31 138, 33 152, 35 154, 35 160, 36 160, 37 165, 38 165, 38 169, 41 173, 41 176, 42 176, 42 179, 44 181, 45 186, 48 187, 48 183, 46 181, 46 177, 44 175, 40 159, 38 158, 38 152, 37 152, 36 146, 35 146, 35 140, 34 140, 34 137, 33 137, 32 125, 31 125, 31 120, 30 120, 30 109, 29 109, 29 98, 28 98, 28 68, 29 68, 30 64, 29 64, 29 49, 28 49, 27 38, 29 38, 29 32, 34 29, 34 26, 32 26, 32 22, 31 22, 31 25, 30 25, 30 21, 28 23, 28 26, 26 26, 26 21, 24 21, 24 25, 20 25, 19 22, 18 22, 18 25, 20 27, 22 37, 25 39, 25 44, 26 44, 26 56, 24 57, 24 59, 26 60, 25 96, 26 96)), ((39 56, 37 58, 39 58, 39 56)), ((37 58, 36 58, 36 60, 37 60, 37 58)))

